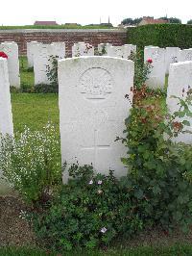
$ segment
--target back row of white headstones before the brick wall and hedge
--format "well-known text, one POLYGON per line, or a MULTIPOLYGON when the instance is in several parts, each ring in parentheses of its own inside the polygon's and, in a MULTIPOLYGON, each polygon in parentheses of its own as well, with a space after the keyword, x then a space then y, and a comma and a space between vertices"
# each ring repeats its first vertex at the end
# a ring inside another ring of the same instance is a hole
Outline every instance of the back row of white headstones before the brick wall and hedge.
MULTIPOLYGON (((18 45, 13 41, 5 41, 0 44, 0 51, 8 55, 10 85, 20 87, 18 45)), ((72 46, 72 57, 94 56, 94 47, 89 43, 78 42, 72 46)), ((128 60, 131 53, 136 52, 136 45, 124 44, 112 46, 110 43, 100 43, 97 54, 128 60)), ((65 58, 65 43, 53 42, 43 44, 37 41, 27 42, 28 66, 35 71, 35 84, 49 84, 47 78, 47 66, 51 65, 50 56, 65 58)), ((144 61, 152 59, 153 68, 149 74, 147 85, 151 88, 163 88, 165 75, 169 74, 169 65, 178 62, 192 61, 192 49, 180 50, 179 47, 159 48, 146 46, 144 49, 144 61)))

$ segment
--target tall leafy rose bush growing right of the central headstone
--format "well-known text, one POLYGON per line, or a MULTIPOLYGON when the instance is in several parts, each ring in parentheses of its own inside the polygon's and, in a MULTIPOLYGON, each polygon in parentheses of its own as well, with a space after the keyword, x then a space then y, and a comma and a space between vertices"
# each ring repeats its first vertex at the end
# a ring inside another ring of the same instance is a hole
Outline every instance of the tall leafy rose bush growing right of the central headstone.
POLYGON ((127 138, 122 139, 129 148, 122 161, 129 167, 130 196, 135 197, 135 208, 147 226, 180 225, 186 231, 192 223, 192 146, 172 139, 190 125, 178 117, 192 115, 191 94, 180 99, 179 112, 167 115, 166 121, 158 104, 144 104, 141 96, 134 93, 127 138))

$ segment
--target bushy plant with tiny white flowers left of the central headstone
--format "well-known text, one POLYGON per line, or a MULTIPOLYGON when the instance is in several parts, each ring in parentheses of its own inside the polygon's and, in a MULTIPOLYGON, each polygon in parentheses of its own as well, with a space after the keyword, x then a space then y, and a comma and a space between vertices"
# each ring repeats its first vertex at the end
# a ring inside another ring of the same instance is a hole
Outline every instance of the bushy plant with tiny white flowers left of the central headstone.
POLYGON ((60 183, 60 145, 55 127, 47 124, 41 132, 25 131, 12 138, 0 138, 0 169, 31 205, 46 202, 60 183))

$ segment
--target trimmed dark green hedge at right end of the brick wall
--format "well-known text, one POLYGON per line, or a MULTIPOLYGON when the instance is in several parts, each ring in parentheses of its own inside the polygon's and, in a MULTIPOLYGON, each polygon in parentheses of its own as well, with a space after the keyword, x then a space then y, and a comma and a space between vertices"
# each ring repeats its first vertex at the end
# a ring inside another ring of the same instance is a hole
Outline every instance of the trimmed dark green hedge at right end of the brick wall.
POLYGON ((143 49, 147 45, 159 47, 192 47, 192 26, 184 24, 156 24, 129 28, 128 42, 143 49))

